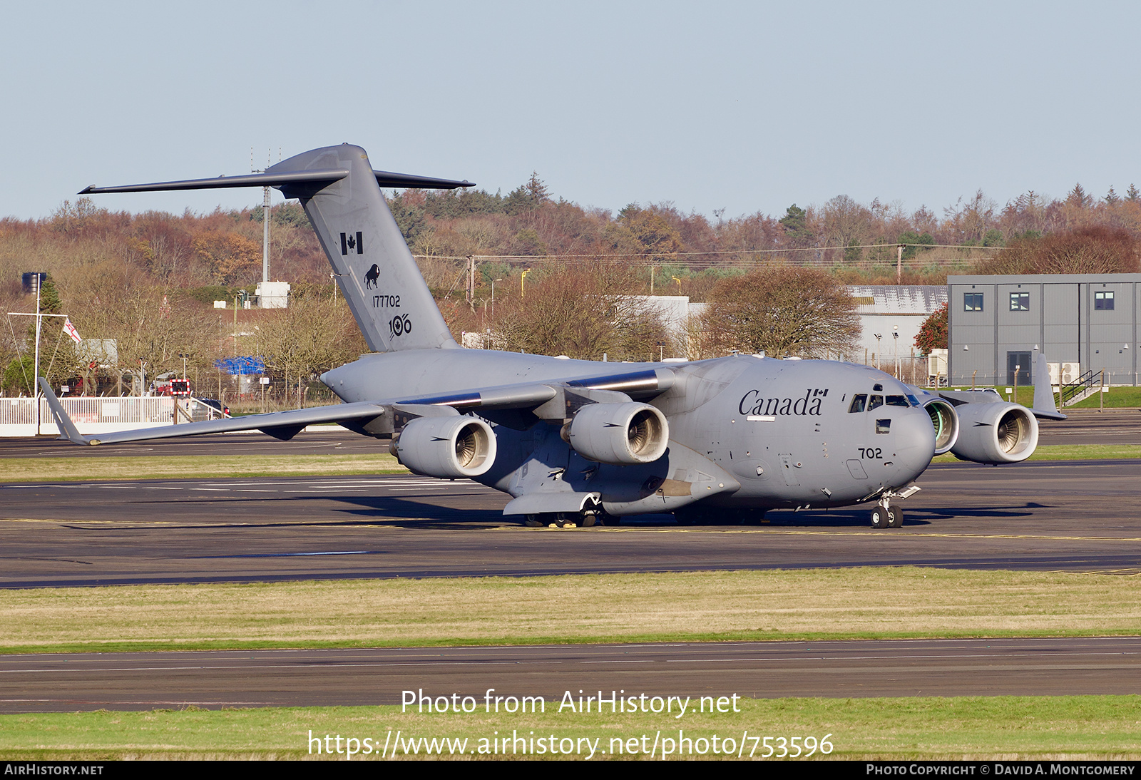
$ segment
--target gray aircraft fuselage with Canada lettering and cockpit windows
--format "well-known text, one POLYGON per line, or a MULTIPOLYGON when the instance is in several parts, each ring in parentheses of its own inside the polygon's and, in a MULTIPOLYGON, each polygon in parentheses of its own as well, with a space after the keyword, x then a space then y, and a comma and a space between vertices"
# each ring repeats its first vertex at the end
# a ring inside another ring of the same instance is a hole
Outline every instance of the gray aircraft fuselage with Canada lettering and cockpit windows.
POLYGON ((322 380, 345 401, 391 401, 474 387, 566 382, 626 367, 669 368, 677 377, 647 401, 669 420, 671 449, 659 463, 591 463, 560 438, 561 421, 539 421, 525 430, 499 425, 495 465, 478 481, 521 495, 555 480, 564 489, 600 493, 620 514, 670 509, 667 497, 662 506, 656 503, 666 480, 706 479, 709 496, 699 501, 715 506, 834 506, 906 486, 934 452, 930 416, 903 383, 867 366, 830 360, 735 355, 614 364, 434 349, 365 355, 322 380))

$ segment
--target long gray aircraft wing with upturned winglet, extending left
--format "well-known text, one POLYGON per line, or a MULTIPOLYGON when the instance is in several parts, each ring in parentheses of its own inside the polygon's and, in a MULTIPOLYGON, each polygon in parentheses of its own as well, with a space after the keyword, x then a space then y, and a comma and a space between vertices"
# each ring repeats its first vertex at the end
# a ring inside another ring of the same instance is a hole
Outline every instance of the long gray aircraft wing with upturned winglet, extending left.
POLYGON ((358 433, 370 434, 385 430, 391 431, 393 412, 403 412, 411 416, 426 416, 429 414, 459 414, 475 409, 491 413, 515 409, 537 411, 544 405, 550 405, 552 409, 543 416, 561 417, 564 416, 563 408, 567 391, 572 395, 589 395, 601 391, 623 393, 629 397, 652 397, 673 387, 674 380, 674 374, 669 368, 656 368, 552 382, 504 384, 439 396, 412 396, 378 401, 315 406, 307 409, 251 414, 244 417, 160 425, 95 436, 83 436, 79 432, 46 379, 40 377, 40 387, 48 400, 48 406, 51 408, 51 414, 56 419, 56 424, 59 426, 60 438, 78 445, 100 445, 233 431, 261 431, 285 440, 292 439, 306 425, 330 422, 340 423, 358 433), (375 425, 380 421, 383 422, 375 425))

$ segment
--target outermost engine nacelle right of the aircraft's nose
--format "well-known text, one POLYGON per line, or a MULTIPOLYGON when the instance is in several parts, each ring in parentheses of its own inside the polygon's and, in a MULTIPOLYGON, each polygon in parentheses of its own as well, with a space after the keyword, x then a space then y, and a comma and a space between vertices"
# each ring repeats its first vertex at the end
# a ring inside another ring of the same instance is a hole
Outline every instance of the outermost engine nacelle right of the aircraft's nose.
POLYGON ((1038 421, 1018 404, 962 404, 958 415, 958 441, 950 448, 961 461, 976 463, 1018 463, 1038 446, 1038 421))

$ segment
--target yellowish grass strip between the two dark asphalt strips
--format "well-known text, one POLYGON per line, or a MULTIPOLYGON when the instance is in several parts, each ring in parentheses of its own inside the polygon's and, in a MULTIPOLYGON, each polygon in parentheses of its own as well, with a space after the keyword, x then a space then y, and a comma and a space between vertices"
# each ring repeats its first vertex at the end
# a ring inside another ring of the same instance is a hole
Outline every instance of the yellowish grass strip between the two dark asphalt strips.
POLYGON ((1139 633, 1138 577, 919 567, 0 591, 0 652, 1139 633))

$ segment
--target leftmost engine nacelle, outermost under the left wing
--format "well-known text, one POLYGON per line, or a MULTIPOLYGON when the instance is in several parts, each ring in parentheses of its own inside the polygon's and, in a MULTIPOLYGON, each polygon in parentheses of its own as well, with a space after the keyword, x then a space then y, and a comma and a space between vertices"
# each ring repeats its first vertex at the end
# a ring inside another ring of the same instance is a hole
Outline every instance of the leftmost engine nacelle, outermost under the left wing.
POLYGON ((495 433, 483 420, 466 415, 416 417, 404 426, 393 449, 418 474, 478 477, 495 463, 495 433))

